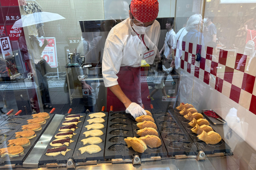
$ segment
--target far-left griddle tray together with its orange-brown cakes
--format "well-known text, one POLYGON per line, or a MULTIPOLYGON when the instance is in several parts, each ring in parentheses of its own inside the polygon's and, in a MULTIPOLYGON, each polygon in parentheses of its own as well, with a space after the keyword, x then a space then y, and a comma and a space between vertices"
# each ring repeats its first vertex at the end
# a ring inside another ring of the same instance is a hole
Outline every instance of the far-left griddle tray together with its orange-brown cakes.
MULTIPOLYGON (((54 110, 52 109, 50 114, 54 110)), ((1 165, 23 163, 23 160, 51 122, 54 115, 50 114, 43 112, 34 115, 9 117, 6 120, 3 128, 9 128, 11 131, 5 134, 7 138, 1 145, 1 165)))

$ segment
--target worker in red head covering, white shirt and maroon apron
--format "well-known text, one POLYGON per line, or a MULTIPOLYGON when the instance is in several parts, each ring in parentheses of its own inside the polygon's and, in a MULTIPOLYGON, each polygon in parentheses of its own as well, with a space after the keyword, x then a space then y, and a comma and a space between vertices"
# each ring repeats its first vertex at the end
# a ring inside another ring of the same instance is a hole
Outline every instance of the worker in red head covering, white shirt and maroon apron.
POLYGON ((141 60, 152 64, 160 36, 157 0, 132 0, 129 18, 113 27, 106 39, 102 75, 108 87, 107 110, 125 110, 134 118, 145 114, 141 107, 141 60))

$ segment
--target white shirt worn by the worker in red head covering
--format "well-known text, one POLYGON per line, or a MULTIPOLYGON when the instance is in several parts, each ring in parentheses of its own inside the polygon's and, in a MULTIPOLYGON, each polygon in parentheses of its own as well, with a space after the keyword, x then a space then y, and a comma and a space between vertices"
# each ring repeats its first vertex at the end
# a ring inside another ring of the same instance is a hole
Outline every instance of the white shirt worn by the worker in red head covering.
MULTIPOLYGON (((160 36, 159 22, 155 20, 146 34, 157 46, 160 36)), ((108 33, 103 53, 102 75, 105 87, 118 84, 116 74, 120 67, 139 67, 145 52, 147 48, 132 30, 130 18, 115 25, 108 33)))

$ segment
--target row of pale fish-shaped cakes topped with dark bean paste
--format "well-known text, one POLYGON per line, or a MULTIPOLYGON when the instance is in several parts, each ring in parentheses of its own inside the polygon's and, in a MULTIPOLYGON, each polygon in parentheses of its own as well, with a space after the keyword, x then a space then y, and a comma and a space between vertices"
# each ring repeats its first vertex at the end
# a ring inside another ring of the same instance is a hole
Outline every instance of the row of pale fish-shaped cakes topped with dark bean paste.
POLYGON ((65 117, 64 122, 62 122, 62 125, 53 140, 50 143, 50 146, 54 147, 51 149, 47 149, 46 154, 47 156, 58 156, 58 155, 63 155, 65 156, 68 151, 71 149, 68 149, 67 147, 70 145, 70 143, 74 142, 74 140, 71 140, 76 133, 74 132, 78 127, 77 124, 80 123, 79 119, 83 117, 79 114, 73 114, 73 115, 68 115, 65 117))

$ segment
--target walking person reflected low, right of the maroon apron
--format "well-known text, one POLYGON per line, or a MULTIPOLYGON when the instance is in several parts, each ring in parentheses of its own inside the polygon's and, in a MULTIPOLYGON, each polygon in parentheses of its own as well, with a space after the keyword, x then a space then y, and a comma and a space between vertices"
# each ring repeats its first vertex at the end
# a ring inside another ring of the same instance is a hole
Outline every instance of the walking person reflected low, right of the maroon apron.
POLYGON ((170 97, 166 95, 165 91, 165 84, 164 84, 164 77, 165 73, 170 74, 174 67, 174 61, 171 62, 170 68, 166 69, 164 66, 165 61, 160 61, 158 64, 156 64, 156 70, 155 70, 155 77, 154 77, 154 83, 155 83, 155 89, 150 93, 150 95, 147 97, 149 100, 155 100, 153 98, 153 95, 159 90, 162 89, 163 96, 170 97))

